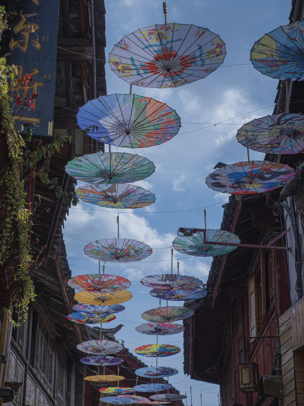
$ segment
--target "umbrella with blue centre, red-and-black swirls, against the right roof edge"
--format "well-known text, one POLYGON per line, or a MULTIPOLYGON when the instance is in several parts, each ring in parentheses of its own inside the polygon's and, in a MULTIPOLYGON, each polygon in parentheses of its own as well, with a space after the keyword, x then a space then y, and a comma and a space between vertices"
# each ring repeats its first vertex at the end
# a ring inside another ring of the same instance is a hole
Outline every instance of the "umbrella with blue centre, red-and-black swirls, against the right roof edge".
POLYGON ((210 173, 206 184, 216 192, 255 194, 280 188, 294 176, 295 172, 290 166, 278 162, 237 162, 210 173))

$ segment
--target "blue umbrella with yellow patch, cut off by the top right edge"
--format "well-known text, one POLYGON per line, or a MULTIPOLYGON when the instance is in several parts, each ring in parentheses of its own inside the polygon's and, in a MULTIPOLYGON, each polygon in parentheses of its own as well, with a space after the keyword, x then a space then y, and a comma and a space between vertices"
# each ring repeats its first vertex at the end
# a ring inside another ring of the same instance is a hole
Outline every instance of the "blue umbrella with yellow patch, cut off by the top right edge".
POLYGON ((304 21, 280 26, 255 42, 250 61, 263 75, 280 80, 304 80, 304 21))

